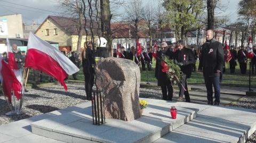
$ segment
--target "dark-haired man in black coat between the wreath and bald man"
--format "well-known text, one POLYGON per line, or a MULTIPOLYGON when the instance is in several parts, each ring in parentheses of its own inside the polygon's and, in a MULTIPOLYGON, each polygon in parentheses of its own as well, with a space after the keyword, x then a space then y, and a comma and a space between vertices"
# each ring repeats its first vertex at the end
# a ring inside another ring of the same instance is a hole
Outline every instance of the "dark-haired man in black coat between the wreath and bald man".
POLYGON ((175 52, 175 60, 177 60, 176 63, 180 66, 180 70, 183 72, 179 98, 177 98, 177 100, 182 101, 183 95, 185 95, 186 102, 190 102, 187 79, 190 78, 193 65, 195 65, 195 55, 191 49, 184 46, 185 44, 183 40, 178 40, 177 45, 179 50, 175 52))

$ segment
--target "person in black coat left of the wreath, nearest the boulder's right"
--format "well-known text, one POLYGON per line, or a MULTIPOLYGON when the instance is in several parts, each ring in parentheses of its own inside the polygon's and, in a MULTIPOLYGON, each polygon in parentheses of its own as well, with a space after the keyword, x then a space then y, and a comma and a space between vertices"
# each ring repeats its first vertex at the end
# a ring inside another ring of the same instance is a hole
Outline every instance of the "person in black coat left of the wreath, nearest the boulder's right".
POLYGON ((163 66, 162 66, 162 57, 166 57, 167 59, 173 59, 171 55, 166 53, 167 44, 163 42, 161 44, 162 51, 157 52, 156 57, 156 69, 155 69, 155 78, 157 79, 157 86, 161 86, 162 94, 163 94, 163 100, 171 100, 173 97, 173 87, 171 80, 167 77, 166 72, 162 72, 163 66), (168 91, 168 95, 167 95, 168 91))

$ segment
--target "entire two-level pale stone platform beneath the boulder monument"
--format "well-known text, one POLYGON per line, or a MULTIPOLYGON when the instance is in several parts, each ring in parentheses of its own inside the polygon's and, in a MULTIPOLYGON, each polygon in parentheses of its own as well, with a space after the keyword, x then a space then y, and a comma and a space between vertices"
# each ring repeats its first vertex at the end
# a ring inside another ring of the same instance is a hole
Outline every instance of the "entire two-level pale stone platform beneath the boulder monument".
POLYGON ((137 120, 93 125, 89 102, 31 122, 32 133, 63 142, 245 142, 256 130, 256 110, 145 100, 149 106, 137 120), (171 106, 177 108, 177 119, 171 119, 171 106))

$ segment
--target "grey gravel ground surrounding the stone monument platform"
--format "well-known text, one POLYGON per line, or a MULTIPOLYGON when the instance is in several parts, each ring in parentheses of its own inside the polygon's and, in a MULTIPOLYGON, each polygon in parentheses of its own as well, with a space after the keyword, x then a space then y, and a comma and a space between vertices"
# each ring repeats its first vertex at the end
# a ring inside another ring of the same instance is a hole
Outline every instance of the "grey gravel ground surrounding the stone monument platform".
MULTIPOLYGON (((67 83, 68 92, 62 86, 54 85, 43 88, 29 89, 23 100, 22 110, 25 114, 6 116, 10 112, 3 95, 0 94, 0 125, 26 119, 28 117, 60 110, 77 104, 88 102, 86 100, 84 85, 79 83, 67 83)), ((177 94, 174 90, 174 95, 177 94)), ((140 88, 140 97, 161 99, 162 92, 158 88, 140 88)), ((232 105, 239 108, 256 109, 256 97, 249 96, 232 105)), ((256 142, 256 131, 247 139, 246 143, 256 142)))

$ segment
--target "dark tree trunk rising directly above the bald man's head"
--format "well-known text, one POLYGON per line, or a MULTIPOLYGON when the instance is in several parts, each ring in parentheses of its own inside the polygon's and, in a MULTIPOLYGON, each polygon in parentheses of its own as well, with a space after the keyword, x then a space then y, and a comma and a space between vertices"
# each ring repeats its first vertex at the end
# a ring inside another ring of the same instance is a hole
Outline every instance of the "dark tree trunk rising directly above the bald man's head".
POLYGON ((214 11, 216 0, 207 0, 207 30, 214 29, 214 11))

